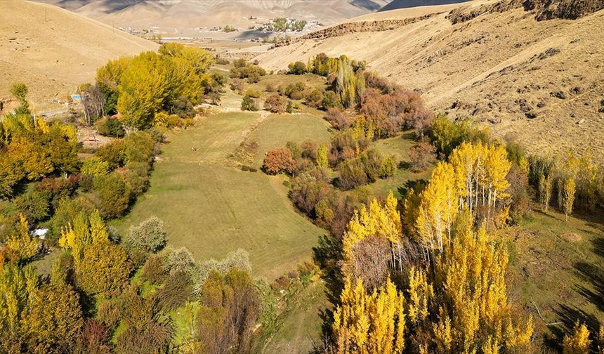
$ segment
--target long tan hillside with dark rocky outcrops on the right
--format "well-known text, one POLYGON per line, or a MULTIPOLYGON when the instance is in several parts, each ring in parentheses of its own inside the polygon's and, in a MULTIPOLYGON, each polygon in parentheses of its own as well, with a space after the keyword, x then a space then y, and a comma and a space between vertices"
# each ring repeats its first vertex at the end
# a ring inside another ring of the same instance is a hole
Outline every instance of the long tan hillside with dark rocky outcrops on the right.
POLYGON ((435 110, 513 134, 541 154, 573 147, 604 152, 604 11, 578 20, 535 20, 523 8, 479 11, 472 1, 365 15, 363 21, 434 13, 396 29, 306 39, 260 55, 269 70, 324 52, 424 92, 435 110), (447 18, 475 11, 471 20, 447 18), (481 13, 481 14, 480 14, 481 13), (601 111, 601 112, 598 112, 601 111))

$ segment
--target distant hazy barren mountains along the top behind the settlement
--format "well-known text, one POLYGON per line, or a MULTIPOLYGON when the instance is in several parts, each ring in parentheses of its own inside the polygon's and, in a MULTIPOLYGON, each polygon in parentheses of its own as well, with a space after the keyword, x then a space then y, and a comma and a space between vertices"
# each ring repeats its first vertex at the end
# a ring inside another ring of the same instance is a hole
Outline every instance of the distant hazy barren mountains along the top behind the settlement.
POLYGON ((288 16, 326 24, 376 11, 388 0, 50 0, 52 4, 119 27, 173 29, 233 25, 247 29, 254 18, 288 16))

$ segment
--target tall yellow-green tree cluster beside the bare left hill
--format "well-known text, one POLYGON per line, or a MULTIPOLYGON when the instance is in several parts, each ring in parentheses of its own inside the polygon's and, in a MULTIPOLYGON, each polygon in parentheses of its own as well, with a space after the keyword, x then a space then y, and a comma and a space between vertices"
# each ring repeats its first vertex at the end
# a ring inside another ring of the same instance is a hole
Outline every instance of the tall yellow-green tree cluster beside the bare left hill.
POLYGON ((111 60, 100 67, 96 86, 103 93, 103 112, 119 112, 133 129, 152 126, 158 112, 182 113, 202 103, 219 84, 208 74, 214 58, 201 48, 163 44, 159 53, 145 52, 111 60))

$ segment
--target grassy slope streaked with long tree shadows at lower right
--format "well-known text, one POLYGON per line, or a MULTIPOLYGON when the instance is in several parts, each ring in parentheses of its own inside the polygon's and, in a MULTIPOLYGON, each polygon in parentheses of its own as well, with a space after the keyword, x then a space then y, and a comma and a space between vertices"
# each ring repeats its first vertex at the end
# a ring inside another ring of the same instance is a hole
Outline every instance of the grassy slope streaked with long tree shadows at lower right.
POLYGON ((565 222, 558 211, 535 209, 522 225, 499 231, 511 254, 509 297, 559 340, 576 320, 592 331, 604 323, 603 219, 601 213, 575 214, 565 222))

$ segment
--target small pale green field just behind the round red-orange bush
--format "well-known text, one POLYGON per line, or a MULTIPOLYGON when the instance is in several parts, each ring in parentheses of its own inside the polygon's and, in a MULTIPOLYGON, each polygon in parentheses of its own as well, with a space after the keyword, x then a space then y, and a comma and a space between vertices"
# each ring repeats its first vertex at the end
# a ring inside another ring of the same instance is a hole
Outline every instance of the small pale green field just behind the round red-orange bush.
POLYGON ((251 132, 249 141, 258 143, 254 167, 260 167, 268 150, 285 147, 288 141, 302 143, 315 140, 327 143, 331 133, 329 124, 320 117, 310 114, 270 114, 268 119, 251 132))

